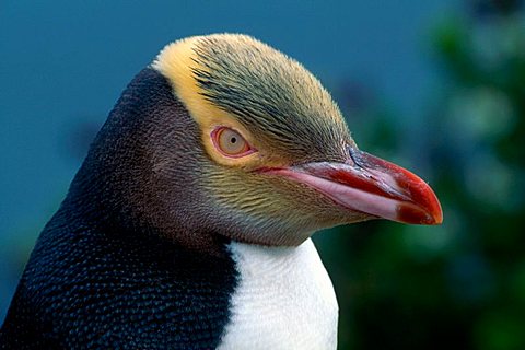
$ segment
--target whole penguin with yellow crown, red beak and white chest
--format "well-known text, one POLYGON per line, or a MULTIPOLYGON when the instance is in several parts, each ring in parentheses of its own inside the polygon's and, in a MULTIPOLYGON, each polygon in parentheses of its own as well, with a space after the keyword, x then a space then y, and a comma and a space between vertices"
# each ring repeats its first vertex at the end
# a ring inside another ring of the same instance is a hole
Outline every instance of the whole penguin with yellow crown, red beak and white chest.
POLYGON ((442 222, 358 148, 301 63, 246 35, 167 45, 125 89, 40 233, 2 349, 336 349, 314 232, 442 222))

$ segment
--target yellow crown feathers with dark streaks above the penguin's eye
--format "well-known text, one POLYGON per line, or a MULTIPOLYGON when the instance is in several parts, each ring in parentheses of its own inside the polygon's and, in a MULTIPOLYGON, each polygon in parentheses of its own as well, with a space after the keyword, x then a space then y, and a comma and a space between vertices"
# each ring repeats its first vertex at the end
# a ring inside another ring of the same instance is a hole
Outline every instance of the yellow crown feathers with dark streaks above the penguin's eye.
POLYGON ((195 36, 167 45, 153 68, 202 126, 229 114, 281 154, 337 160, 353 144, 337 105, 301 63, 253 37, 195 36), (202 110, 207 106, 207 110, 202 110), (301 140, 301 142, 298 142, 301 140))

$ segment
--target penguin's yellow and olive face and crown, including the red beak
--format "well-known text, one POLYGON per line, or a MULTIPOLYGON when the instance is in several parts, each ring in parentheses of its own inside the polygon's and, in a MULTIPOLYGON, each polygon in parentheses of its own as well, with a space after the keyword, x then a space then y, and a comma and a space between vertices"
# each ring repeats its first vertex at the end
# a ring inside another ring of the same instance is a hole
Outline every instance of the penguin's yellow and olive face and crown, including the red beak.
POLYGON ((329 93, 280 51, 245 35, 197 36, 165 47, 153 68, 199 130, 196 183, 210 229, 298 245, 316 230, 377 217, 441 221, 430 187, 361 152, 329 93))

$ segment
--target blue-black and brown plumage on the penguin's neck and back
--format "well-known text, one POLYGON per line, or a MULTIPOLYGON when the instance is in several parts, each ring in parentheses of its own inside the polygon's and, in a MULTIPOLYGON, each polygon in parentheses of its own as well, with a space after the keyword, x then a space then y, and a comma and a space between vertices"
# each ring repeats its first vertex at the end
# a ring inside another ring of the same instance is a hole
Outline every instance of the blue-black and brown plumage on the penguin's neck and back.
POLYGON ((225 252, 228 240, 197 240, 195 245, 210 254, 195 254, 195 247, 168 237, 172 223, 165 219, 174 213, 186 225, 198 228, 192 222, 198 218, 177 208, 192 196, 187 177, 168 167, 160 168, 159 175, 141 163, 162 156, 163 151, 153 150, 143 135, 153 132, 171 142, 166 147, 173 147, 168 151, 173 155, 197 144, 191 129, 195 125, 185 117, 166 79, 150 68, 139 73, 38 238, 1 330, 3 348, 210 349, 218 345, 236 278, 225 252), (173 110, 179 110, 180 117, 172 125, 155 122, 173 110), (180 132, 185 142, 177 142, 180 132), (163 176, 176 179, 170 189, 162 188, 159 177, 163 176), (151 191, 139 191, 137 197, 133 187, 144 184, 151 191), (173 191, 180 200, 164 208, 155 190, 173 191))

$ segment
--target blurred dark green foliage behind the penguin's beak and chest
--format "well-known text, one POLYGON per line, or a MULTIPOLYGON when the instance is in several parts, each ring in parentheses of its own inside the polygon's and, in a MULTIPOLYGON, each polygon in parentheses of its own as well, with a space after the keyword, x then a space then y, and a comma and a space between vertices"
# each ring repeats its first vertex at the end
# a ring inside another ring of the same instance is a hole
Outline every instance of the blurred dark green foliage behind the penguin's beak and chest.
POLYGON ((361 147, 405 155, 394 160, 429 179, 444 210, 442 226, 316 236, 340 349, 525 349, 525 16, 520 1, 469 5, 432 31, 442 86, 418 135, 339 98, 361 147))

